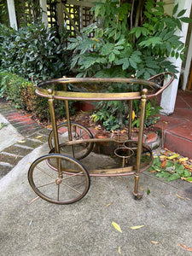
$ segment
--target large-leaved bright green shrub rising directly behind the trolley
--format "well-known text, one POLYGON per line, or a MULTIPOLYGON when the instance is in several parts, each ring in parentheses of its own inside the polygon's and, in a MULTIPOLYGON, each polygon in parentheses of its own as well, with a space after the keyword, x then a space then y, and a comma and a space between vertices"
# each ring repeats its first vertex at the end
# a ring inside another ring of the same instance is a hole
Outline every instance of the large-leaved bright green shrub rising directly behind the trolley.
MULTIPOLYGON (((85 27, 82 37, 69 38, 67 49, 74 50, 71 68, 78 77, 127 78, 134 75, 138 79, 149 79, 165 71, 177 73, 167 57, 184 59, 185 47, 175 32, 182 30, 182 21, 191 21, 183 17, 186 10, 177 13, 177 4, 172 15, 167 15, 165 3, 161 1, 127 2, 103 0, 95 3, 92 10, 97 22, 85 27), (90 38, 90 34, 94 38, 90 38)), ((159 111, 150 104, 146 113, 152 116, 147 115, 146 125, 153 124, 153 115, 159 111)), ((111 106, 113 113, 113 104, 111 106)), ((106 109, 100 109, 98 119, 102 111, 106 109)), ((139 108, 135 111, 138 116, 139 108)), ((138 122, 136 120, 135 125, 138 122)))

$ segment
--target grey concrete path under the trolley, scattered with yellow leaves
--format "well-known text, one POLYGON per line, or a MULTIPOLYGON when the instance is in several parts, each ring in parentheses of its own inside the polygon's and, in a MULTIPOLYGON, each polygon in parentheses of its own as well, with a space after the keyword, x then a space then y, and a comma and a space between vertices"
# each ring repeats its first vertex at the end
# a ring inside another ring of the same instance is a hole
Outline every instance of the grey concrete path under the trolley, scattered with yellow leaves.
POLYGON ((72 205, 32 202, 27 171, 48 149, 36 148, 0 180, 1 255, 191 255, 179 245, 192 247, 190 183, 167 185, 142 174, 144 196, 135 201, 132 176, 91 177, 88 194, 72 205))

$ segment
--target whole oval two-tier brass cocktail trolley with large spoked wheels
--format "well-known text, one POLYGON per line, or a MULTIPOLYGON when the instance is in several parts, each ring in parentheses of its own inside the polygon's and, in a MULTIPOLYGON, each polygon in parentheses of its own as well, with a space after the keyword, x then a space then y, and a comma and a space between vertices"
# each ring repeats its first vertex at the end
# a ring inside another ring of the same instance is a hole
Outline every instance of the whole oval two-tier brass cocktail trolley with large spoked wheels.
POLYGON ((49 154, 39 157, 29 168, 28 180, 34 192, 46 201, 70 204, 86 195, 90 188, 90 176, 134 174, 133 195, 140 199, 139 173, 153 162, 151 148, 143 143, 146 102, 160 95, 173 79, 172 73, 160 73, 148 80, 63 77, 36 84, 36 94, 48 98, 52 131, 48 140, 49 154), (113 88, 112 92, 108 92, 110 88, 113 88), (119 92, 114 88, 118 88, 119 92), (67 122, 60 125, 56 125, 55 119, 56 100, 63 100, 66 105, 67 122), (131 137, 133 100, 140 101, 141 108, 137 141, 131 137), (127 101, 127 134, 113 133, 108 138, 93 137, 84 125, 71 121, 69 101, 127 101), (108 147, 109 154, 96 152, 96 145, 101 143, 108 147))

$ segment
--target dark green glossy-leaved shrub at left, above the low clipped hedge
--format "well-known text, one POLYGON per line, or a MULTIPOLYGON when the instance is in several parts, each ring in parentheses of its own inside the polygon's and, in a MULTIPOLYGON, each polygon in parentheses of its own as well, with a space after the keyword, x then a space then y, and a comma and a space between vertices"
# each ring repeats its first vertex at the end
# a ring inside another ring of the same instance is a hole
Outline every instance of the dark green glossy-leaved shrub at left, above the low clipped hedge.
POLYGON ((27 24, 18 31, 0 24, 1 67, 31 79, 58 78, 68 71, 68 33, 41 23, 27 24))

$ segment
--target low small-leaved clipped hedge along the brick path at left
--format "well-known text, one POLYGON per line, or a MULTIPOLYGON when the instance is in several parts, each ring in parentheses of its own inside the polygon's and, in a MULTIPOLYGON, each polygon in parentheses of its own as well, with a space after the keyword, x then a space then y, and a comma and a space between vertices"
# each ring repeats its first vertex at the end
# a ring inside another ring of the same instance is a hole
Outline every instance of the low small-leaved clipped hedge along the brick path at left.
MULTIPOLYGON (((37 96, 33 84, 14 73, 0 71, 0 97, 6 97, 15 108, 26 110, 40 120, 49 119, 48 99, 37 96)), ((65 102, 55 101, 55 106, 56 117, 65 116, 65 102)), ((69 107, 73 113, 73 102, 69 107)))

